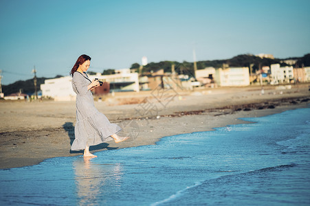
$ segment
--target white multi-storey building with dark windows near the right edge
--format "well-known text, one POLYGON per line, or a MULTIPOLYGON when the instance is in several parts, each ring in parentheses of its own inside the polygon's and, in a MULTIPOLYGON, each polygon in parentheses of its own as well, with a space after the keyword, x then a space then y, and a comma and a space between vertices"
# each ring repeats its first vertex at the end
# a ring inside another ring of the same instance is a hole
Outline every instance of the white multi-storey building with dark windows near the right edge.
POLYGON ((271 84, 283 84, 290 83, 294 80, 293 67, 280 67, 279 64, 274 64, 270 66, 271 70, 271 84))

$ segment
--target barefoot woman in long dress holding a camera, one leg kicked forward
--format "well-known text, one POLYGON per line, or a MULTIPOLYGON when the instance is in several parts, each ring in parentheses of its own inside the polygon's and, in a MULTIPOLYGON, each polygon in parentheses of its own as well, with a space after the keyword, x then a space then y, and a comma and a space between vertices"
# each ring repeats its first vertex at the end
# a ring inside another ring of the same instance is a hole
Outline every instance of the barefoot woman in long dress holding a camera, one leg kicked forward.
POLYGON ((119 137, 115 133, 121 130, 120 126, 111 124, 109 119, 100 113, 93 104, 91 90, 98 87, 98 80, 89 80, 86 71, 91 58, 82 54, 71 69, 72 88, 76 93, 76 126, 71 150, 83 150, 84 157, 97 157, 89 152, 89 146, 100 144, 114 139, 116 143, 125 141, 129 137, 119 137))

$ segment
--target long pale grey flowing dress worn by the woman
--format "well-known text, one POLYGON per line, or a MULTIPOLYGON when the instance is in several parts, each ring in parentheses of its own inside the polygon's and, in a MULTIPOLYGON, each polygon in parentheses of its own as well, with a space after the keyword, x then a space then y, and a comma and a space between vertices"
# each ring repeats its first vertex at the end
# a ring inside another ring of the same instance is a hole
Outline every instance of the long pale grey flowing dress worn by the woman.
POLYGON ((120 126, 111 124, 107 117, 100 113, 93 103, 93 95, 87 86, 91 80, 76 71, 72 78, 72 88, 76 93, 76 125, 74 126, 75 139, 71 150, 83 150, 89 146, 112 140, 111 135, 118 133, 120 126))

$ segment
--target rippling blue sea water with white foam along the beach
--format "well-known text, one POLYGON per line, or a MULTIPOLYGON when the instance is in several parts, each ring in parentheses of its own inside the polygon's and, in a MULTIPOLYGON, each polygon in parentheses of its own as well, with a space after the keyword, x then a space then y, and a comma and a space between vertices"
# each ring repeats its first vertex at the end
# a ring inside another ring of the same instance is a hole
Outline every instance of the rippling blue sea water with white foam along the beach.
POLYGON ((0 170, 0 205, 310 205, 310 108, 244 120, 0 170))

